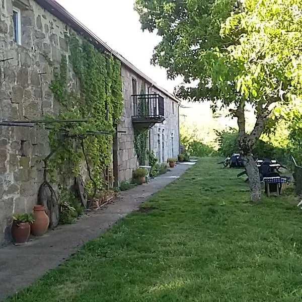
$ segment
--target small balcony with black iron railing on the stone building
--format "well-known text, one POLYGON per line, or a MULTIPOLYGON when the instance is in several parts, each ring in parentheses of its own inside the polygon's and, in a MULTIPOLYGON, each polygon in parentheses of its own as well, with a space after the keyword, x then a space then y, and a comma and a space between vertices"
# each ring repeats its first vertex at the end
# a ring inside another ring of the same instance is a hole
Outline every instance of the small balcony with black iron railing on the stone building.
POLYGON ((138 128, 151 128, 165 120, 164 98, 159 94, 132 95, 132 123, 138 128))

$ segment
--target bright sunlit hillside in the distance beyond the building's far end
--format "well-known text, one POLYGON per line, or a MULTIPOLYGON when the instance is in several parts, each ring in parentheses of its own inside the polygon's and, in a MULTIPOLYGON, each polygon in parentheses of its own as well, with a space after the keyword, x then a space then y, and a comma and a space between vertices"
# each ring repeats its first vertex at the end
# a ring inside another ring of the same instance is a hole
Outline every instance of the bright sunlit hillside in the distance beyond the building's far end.
MULTIPOLYGON (((214 130, 229 127, 237 128, 237 120, 226 117, 228 110, 212 113, 210 103, 191 103, 183 101, 180 106, 181 131, 186 129, 196 134, 205 143, 212 144, 215 139, 214 130)), ((252 110, 247 112, 247 129, 252 129, 255 116, 252 110)))

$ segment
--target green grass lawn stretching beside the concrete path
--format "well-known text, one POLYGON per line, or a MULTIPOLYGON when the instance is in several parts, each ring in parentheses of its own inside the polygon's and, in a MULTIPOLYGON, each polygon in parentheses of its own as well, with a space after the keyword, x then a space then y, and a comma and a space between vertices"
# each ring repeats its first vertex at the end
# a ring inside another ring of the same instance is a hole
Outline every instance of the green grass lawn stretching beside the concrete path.
POLYGON ((302 211, 206 159, 6 302, 302 300, 302 211))

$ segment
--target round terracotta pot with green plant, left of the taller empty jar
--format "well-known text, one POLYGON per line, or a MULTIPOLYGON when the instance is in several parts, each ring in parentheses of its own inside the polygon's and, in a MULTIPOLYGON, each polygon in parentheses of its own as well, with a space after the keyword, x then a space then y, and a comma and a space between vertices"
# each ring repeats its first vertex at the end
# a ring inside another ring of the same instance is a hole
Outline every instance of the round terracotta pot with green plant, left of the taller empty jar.
POLYGON ((15 214, 13 216, 12 237, 15 243, 25 243, 30 235, 30 224, 34 221, 32 214, 15 214))

